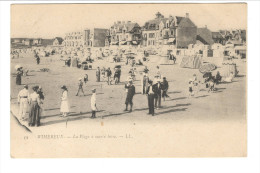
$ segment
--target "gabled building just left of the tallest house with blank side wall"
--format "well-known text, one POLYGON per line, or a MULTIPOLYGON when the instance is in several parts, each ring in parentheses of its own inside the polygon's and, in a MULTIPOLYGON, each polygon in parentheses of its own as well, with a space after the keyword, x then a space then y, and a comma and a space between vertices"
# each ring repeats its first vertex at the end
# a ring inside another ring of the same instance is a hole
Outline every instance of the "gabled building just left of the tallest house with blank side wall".
POLYGON ((107 32, 106 45, 138 45, 141 39, 142 31, 138 23, 118 21, 107 32))

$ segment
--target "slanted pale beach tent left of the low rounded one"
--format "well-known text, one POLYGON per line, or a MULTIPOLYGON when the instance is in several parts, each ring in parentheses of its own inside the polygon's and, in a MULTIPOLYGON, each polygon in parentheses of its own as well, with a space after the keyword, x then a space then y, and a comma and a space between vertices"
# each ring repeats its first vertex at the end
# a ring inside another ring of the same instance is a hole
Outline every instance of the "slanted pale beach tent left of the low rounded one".
POLYGON ((184 56, 182 58, 180 67, 182 68, 194 68, 198 69, 201 66, 201 58, 197 55, 193 56, 184 56))

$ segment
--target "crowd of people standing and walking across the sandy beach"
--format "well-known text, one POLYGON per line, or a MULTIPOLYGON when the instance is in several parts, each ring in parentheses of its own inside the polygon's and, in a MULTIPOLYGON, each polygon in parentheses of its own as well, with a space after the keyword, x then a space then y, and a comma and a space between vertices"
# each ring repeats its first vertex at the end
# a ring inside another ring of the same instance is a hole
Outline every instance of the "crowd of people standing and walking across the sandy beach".
MULTIPOLYGON (((36 64, 40 64, 40 53, 37 50, 32 51, 34 53, 34 58, 36 60, 36 64)), ((55 51, 51 52, 51 54, 55 53, 55 51)), ((63 54, 64 52, 60 52, 63 54)), ((72 52, 71 52, 72 53, 72 52)), ((67 53, 65 53, 67 54, 67 53)), ((144 52, 144 57, 146 57, 147 52, 144 52)), ((74 55, 77 56, 77 54, 74 55)), ((88 51, 86 53, 87 57, 85 60, 90 60, 91 53, 88 51)), ((101 54, 101 56, 103 56, 101 54)), ((169 55, 171 59, 175 59, 172 54, 169 55)), ((75 57, 74 57, 75 58, 75 57)), ((70 58, 71 59, 71 58, 70 58)), ((126 62, 128 62, 129 59, 126 58, 126 62)), ((73 63, 72 61, 69 62, 69 64, 73 63)), ((127 63, 128 64, 128 63, 127 63)), ((71 66, 71 65, 70 65, 71 66)), ((114 80, 114 84, 117 85, 121 83, 121 66, 116 65, 114 69, 111 70, 110 67, 97 67, 96 68, 96 82, 103 82, 106 81, 107 85, 112 85, 112 81, 114 80)), ((24 70, 22 67, 17 68, 16 73, 16 84, 21 85, 21 78, 24 74, 24 70)), ((124 85, 124 89, 126 91, 125 95, 125 110, 124 111, 133 111, 133 105, 134 101, 133 98, 136 94, 136 88, 135 88, 135 81, 136 76, 138 75, 138 72, 133 64, 130 64, 130 70, 128 72, 128 76, 126 78, 126 82, 124 85), (129 107, 130 106, 130 107, 129 107)), ((156 72, 154 74, 149 73, 149 69, 147 66, 144 66, 144 69, 141 73, 139 73, 139 77, 141 78, 141 93, 143 95, 146 95, 146 100, 148 102, 148 114, 154 116, 155 110, 158 110, 162 107, 162 99, 163 101, 166 100, 166 98, 170 97, 168 95, 169 90, 169 82, 167 81, 167 78, 161 73, 160 67, 156 66, 156 72)), ((205 74, 204 74, 205 75, 205 74)), ((204 77, 204 76, 203 76, 204 77)), ((200 82, 197 79, 197 76, 194 74, 193 78, 189 80, 189 97, 192 97, 196 95, 200 91, 200 84, 204 83, 205 87, 208 88, 208 92, 213 92, 215 90, 215 85, 218 85, 219 83, 223 81, 232 81, 232 78, 234 76, 230 76, 231 79, 223 78, 219 72, 217 72, 216 76, 213 76, 211 73, 208 73, 204 78, 204 82, 200 82)), ((86 96, 84 92, 83 85, 87 84, 89 80, 89 76, 86 73, 84 77, 78 79, 78 89, 76 92, 76 96, 86 96)), ((62 95, 61 95, 61 105, 60 105, 60 113, 61 117, 68 117, 70 113, 70 103, 69 103, 69 96, 68 96, 68 88, 66 85, 63 85, 61 87, 62 89, 62 95)), ((44 94, 42 92, 42 88, 40 86, 34 86, 32 87, 33 93, 29 93, 28 91, 28 85, 24 85, 24 89, 22 89, 18 94, 18 103, 20 104, 19 108, 19 117, 22 121, 26 120, 26 112, 27 109, 29 109, 29 118, 28 118, 28 125, 29 126, 39 126, 40 125, 40 117, 43 112, 43 101, 44 101, 44 94)), ((91 96, 91 110, 92 110, 92 116, 91 118, 96 118, 96 111, 97 109, 97 98, 96 98, 96 89, 92 89, 92 96, 91 96)))

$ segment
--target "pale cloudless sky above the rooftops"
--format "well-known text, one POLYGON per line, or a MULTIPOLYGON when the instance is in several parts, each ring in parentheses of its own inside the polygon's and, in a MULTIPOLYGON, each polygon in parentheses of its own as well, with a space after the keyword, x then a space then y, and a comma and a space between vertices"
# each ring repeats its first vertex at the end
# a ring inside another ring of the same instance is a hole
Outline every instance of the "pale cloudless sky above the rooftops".
POLYGON ((34 4, 11 6, 11 37, 54 38, 86 28, 109 28, 116 21, 143 26, 160 12, 185 16, 211 31, 246 29, 246 4, 34 4))

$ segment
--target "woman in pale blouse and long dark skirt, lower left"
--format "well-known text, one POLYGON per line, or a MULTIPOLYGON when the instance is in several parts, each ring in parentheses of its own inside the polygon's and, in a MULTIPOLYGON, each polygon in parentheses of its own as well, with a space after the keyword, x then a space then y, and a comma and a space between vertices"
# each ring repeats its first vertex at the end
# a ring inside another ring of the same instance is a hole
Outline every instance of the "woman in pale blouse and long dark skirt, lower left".
POLYGON ((38 87, 33 87, 33 93, 30 94, 30 111, 29 111, 29 126, 40 126, 40 96, 37 93, 38 87))

